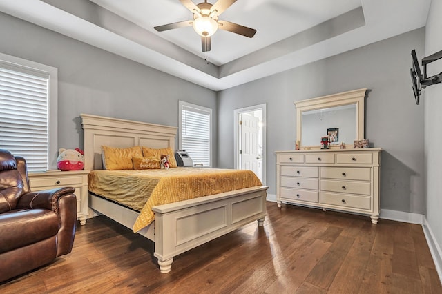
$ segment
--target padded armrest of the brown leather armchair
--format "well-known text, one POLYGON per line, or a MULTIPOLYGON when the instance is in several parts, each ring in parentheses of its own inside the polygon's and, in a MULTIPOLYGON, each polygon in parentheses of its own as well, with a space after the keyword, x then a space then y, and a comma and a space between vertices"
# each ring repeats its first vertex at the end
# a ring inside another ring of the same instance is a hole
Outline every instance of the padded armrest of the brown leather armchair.
POLYGON ((64 195, 70 195, 75 192, 73 187, 53 188, 37 192, 30 192, 21 195, 17 208, 46 208, 59 214, 58 200, 64 195))

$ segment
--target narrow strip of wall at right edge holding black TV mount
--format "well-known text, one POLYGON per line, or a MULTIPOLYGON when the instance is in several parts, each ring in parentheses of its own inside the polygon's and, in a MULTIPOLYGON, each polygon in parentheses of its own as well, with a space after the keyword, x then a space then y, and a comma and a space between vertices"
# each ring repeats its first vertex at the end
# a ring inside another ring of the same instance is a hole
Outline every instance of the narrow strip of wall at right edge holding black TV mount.
MULTIPOLYGON (((432 1, 429 16, 427 19, 425 54, 423 51, 417 52, 419 58, 424 55, 432 55, 442 50, 442 1, 432 1)), ((428 65, 430 75, 442 72, 442 60, 435 61, 428 65)), ((423 90, 423 100, 425 102, 425 171, 427 179, 427 203, 426 219, 427 230, 433 238, 435 244, 430 244, 434 250, 434 263, 442 279, 442 84, 436 84, 423 90)))

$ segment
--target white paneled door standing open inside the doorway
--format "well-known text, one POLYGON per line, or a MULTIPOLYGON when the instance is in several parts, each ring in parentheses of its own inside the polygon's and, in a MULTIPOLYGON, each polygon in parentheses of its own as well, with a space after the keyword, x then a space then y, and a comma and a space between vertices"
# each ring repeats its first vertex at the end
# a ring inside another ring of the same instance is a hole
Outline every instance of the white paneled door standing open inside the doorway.
POLYGON ((258 175, 260 172, 260 155, 258 153, 259 118, 248 113, 241 114, 241 149, 240 160, 242 170, 252 170, 258 175))

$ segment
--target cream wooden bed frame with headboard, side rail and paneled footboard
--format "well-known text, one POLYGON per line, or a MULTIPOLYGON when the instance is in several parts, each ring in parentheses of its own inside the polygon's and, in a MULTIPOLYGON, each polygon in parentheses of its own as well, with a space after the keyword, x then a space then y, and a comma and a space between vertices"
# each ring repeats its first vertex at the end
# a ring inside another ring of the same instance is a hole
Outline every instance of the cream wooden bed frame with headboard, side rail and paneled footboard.
MULTIPOLYGON (((175 148, 177 128, 97 115, 81 115, 84 130, 84 169, 102 170, 102 146, 127 148, 175 148)), ((169 273, 173 257, 216 237, 257 221, 262 226, 266 213, 267 186, 253 186, 215 195, 153 206, 155 220, 137 231, 155 242, 161 273, 169 273)), ((89 193, 93 215, 102 214, 133 229, 135 210, 89 193)))

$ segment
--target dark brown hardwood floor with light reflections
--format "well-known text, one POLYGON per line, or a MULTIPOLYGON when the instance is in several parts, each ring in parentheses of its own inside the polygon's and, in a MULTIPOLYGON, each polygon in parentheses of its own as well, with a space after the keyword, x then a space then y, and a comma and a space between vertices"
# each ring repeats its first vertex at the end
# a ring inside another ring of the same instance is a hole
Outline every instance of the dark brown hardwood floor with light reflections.
POLYGON ((442 293, 421 226, 267 203, 256 222, 175 257, 161 274, 153 242, 100 216, 72 253, 0 293, 442 293))

